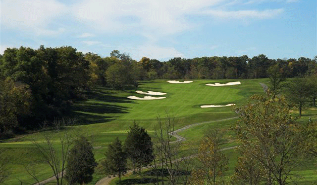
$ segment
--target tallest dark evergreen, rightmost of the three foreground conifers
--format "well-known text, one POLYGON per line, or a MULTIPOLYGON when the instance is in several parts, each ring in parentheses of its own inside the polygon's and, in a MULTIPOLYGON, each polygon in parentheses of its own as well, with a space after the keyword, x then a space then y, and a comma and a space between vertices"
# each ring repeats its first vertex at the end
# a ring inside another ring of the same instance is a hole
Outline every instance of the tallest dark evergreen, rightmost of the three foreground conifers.
POLYGON ((154 159, 153 144, 147 131, 135 122, 130 129, 125 140, 125 149, 134 171, 138 167, 141 172, 141 166, 150 164, 154 159))

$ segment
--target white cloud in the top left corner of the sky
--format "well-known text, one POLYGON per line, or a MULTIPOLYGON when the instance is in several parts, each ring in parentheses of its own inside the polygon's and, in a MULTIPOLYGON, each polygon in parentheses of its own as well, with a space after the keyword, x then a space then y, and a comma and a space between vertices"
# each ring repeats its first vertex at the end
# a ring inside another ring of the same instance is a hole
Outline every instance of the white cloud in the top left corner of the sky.
POLYGON ((43 28, 66 12, 57 0, 5 0, 1 6, 1 24, 7 28, 43 28))

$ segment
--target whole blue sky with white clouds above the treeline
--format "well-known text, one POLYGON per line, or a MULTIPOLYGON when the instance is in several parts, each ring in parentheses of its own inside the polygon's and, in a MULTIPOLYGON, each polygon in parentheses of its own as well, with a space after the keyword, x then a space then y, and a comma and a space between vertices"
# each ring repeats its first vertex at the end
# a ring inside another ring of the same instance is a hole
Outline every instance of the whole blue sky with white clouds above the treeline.
POLYGON ((170 58, 317 55, 317 0, 0 0, 0 54, 72 46, 170 58))

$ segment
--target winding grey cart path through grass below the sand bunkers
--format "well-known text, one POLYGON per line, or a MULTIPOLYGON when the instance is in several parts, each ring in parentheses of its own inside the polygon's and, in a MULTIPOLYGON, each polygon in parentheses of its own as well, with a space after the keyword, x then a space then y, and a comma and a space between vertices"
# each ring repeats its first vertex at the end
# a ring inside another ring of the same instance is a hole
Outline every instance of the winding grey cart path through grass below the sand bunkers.
MULTIPOLYGON (((187 130, 191 127, 194 127, 194 126, 198 126, 198 125, 202 125, 202 124, 207 124, 207 123, 213 123, 213 122, 218 122, 218 121, 225 121, 225 120, 231 120, 231 119, 235 119, 235 118, 238 118, 237 116, 235 117, 230 117, 230 118, 225 118, 225 119, 219 119, 219 120, 214 120, 214 121, 205 121, 205 122, 200 122, 200 123, 194 123, 194 124, 191 124, 191 125, 187 125, 183 128, 180 128, 178 130, 175 130, 174 132, 170 132, 168 133, 170 136, 174 136, 177 140, 176 141, 173 141, 171 143, 175 143, 175 142, 180 142, 180 141, 186 141, 186 138, 178 135, 177 133, 179 132, 182 132, 184 130, 187 130)), ((226 147, 226 148, 221 148, 220 151, 224 151, 224 150, 227 150, 227 149, 233 149, 233 148, 237 148, 238 146, 234 146, 234 147, 226 147)), ((190 156, 187 156, 185 157, 185 159, 189 159, 189 158, 193 158, 193 157, 196 157, 198 154, 194 154, 194 155, 190 155, 190 156)), ((178 160, 178 159, 176 159, 178 160)), ((128 171, 128 174, 130 174, 132 171, 128 171)), ((110 183, 111 180, 113 180, 115 177, 111 176, 111 177, 104 177, 103 179, 99 180, 96 185, 108 185, 110 183)))

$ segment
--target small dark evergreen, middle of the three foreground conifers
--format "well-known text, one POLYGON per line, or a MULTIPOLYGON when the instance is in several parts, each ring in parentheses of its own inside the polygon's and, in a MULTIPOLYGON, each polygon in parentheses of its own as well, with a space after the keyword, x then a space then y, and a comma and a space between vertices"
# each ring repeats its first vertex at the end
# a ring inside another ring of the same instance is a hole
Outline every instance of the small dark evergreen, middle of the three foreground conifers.
POLYGON ((104 161, 103 164, 105 165, 106 171, 111 175, 118 174, 119 181, 121 181, 121 175, 127 170, 127 154, 123 150, 118 137, 109 145, 105 155, 106 161, 104 161))

